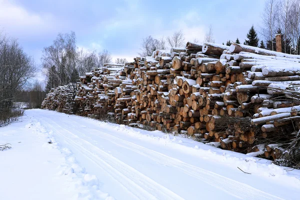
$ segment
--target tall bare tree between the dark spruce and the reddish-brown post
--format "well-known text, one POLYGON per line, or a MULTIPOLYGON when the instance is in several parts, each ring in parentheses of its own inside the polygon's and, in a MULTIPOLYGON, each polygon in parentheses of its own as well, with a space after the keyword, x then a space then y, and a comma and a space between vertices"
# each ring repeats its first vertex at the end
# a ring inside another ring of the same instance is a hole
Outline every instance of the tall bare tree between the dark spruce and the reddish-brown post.
MULTIPOLYGON (((262 34, 266 40, 272 41, 275 30, 277 19, 277 1, 276 0, 266 0, 264 9, 262 12, 262 34)), ((271 49, 274 49, 273 42, 271 42, 271 49)))

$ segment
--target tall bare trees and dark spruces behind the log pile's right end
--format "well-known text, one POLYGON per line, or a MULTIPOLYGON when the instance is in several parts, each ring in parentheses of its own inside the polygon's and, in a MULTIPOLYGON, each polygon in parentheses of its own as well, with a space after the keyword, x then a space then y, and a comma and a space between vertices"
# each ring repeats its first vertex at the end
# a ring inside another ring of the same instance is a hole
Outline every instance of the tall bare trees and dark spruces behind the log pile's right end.
MULTIPOLYGON (((262 24, 258 28, 258 33, 262 38, 258 38, 252 25, 246 35, 247 39, 243 42, 244 44, 275 51, 275 35, 281 34, 281 51, 289 54, 300 54, 299 0, 266 0, 261 13, 261 20, 262 24)), ((235 43, 239 43, 237 40, 235 43)), ((230 43, 231 41, 228 39, 225 44, 230 45, 230 43)))

